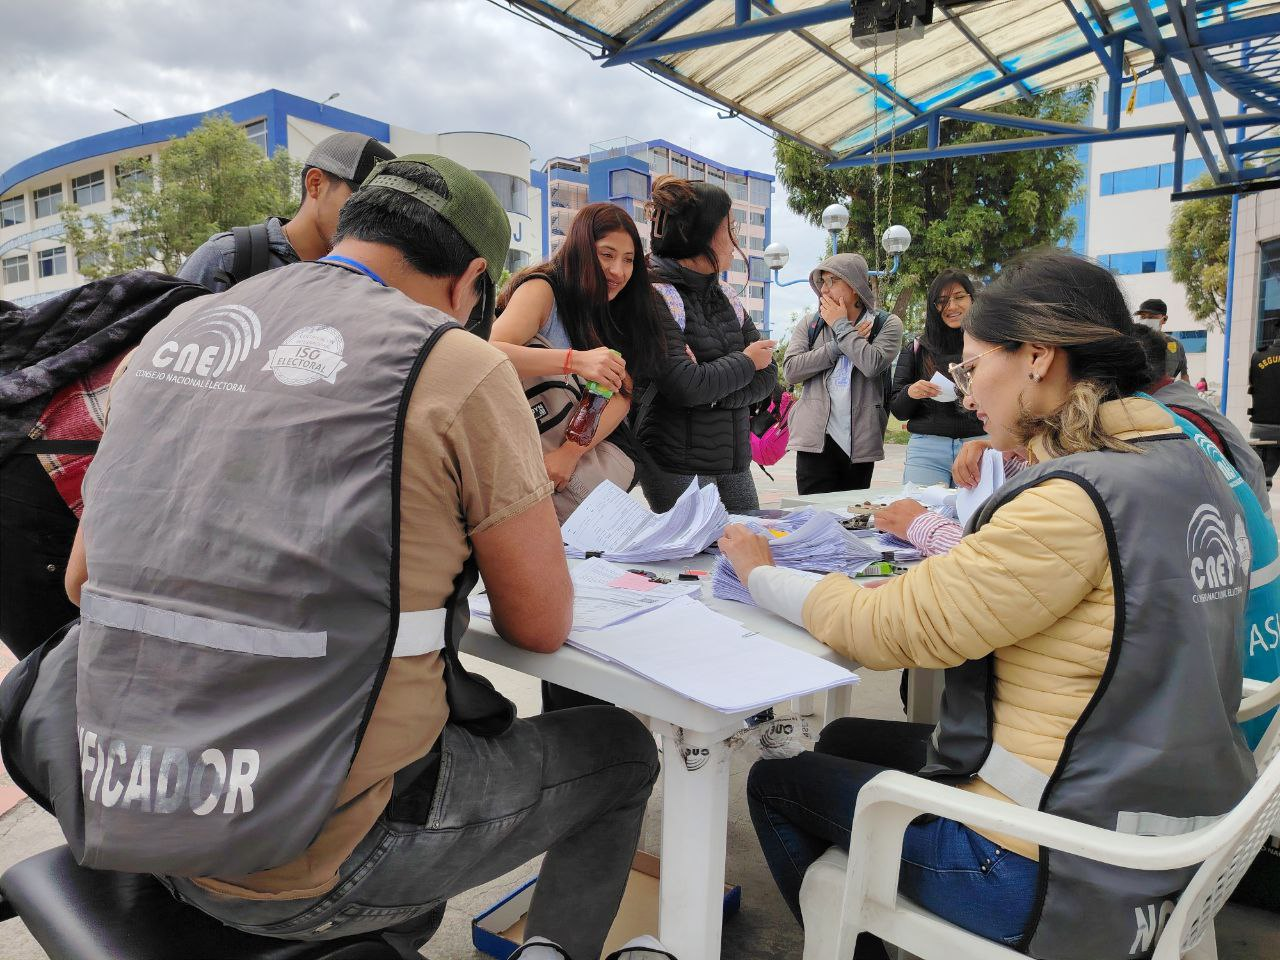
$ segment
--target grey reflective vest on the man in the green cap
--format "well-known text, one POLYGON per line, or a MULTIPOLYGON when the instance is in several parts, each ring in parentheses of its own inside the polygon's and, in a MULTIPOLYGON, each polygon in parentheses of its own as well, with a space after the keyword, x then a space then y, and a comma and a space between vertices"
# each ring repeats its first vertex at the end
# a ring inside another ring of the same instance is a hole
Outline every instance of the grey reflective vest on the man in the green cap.
POLYGON ((56 765, 38 756, 51 721, 36 700, 65 696, 55 667, 78 648, 82 829, 58 814, 81 863, 237 877, 296 858, 335 806, 392 657, 440 650, 451 721, 509 724, 511 704, 457 662, 474 567, 444 608, 399 611, 404 415, 456 326, 298 264, 143 339, 87 480, 82 618, 17 737, 35 769, 56 765))

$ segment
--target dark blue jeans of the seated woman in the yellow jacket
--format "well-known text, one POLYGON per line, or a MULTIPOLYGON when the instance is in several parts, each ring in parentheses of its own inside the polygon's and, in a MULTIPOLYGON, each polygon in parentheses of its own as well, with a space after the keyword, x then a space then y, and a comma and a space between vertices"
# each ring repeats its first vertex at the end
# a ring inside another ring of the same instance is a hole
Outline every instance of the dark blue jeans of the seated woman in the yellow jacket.
MULTIPOLYGON (((814 753, 759 760, 748 778, 748 806, 774 882, 800 920, 805 870, 832 845, 849 849, 858 792, 884 769, 919 769, 931 727, 841 719, 814 753), (863 753, 874 763, 849 756, 863 753), (828 750, 840 750, 836 755, 828 750)), ((1038 864, 955 820, 920 818, 906 828, 899 890, 925 910, 980 937, 1016 945, 1036 900, 1038 864)), ((859 937, 856 957, 881 956, 859 937)))

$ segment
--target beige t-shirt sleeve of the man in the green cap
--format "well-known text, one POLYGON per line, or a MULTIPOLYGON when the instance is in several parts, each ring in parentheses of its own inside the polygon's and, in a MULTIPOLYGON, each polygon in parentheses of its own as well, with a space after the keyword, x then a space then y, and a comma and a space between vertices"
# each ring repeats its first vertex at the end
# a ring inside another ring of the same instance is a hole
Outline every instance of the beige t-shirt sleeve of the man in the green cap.
POLYGON ((554 489, 511 361, 494 366, 466 397, 447 442, 458 465, 468 536, 524 513, 554 489))

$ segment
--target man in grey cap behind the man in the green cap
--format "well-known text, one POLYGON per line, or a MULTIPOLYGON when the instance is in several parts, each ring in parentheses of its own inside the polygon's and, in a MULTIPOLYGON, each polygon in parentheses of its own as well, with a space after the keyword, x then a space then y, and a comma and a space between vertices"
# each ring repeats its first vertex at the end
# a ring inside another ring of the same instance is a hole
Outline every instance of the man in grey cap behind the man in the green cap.
POLYGON ((252 227, 215 233, 178 269, 178 276, 220 293, 253 274, 300 260, 319 260, 333 248, 338 211, 374 166, 393 154, 364 133, 334 133, 307 155, 302 206, 292 220, 270 216, 252 227))

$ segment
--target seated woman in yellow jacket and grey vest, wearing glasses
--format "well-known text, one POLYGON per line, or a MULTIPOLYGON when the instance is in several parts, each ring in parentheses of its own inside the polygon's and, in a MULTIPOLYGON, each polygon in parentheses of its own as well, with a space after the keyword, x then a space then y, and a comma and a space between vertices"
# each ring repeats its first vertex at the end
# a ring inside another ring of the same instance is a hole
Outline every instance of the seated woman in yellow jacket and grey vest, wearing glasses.
MULTIPOLYGON (((948 668, 936 733, 840 719, 817 751, 751 769, 751 818, 797 919, 805 869, 828 845, 847 849, 858 792, 884 769, 1107 829, 1217 817, 1251 785, 1233 722, 1243 520, 1208 458, 1133 396, 1149 375, 1130 332, 1098 264, 1055 251, 1006 266, 965 317, 951 375, 991 444, 1025 449, 1030 465, 950 553, 879 589, 777 568, 767 540, 726 530, 721 549, 759 605, 872 669, 948 668)), ((899 888, 1034 956, 1123 956, 1146 893, 1091 869, 925 818, 906 828, 899 888), (1064 924, 1064 910, 1091 923, 1064 924)), ((859 938, 856 957, 883 955, 859 938)))

